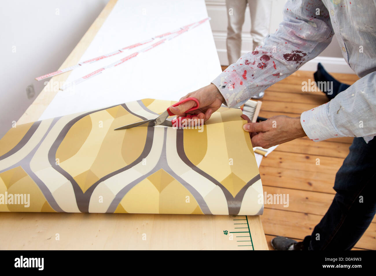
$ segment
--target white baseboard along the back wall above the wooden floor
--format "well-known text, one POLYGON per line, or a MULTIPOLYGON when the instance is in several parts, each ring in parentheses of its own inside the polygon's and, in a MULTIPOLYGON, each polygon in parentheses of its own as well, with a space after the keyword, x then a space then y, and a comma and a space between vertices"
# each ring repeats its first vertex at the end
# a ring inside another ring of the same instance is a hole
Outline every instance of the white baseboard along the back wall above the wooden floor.
MULTIPOLYGON (((227 65, 227 51, 226 49, 217 49, 218 57, 221 65, 227 65)), ((248 53, 247 51, 242 51, 242 55, 248 53)), ((306 64, 299 68, 303 71, 316 71, 317 63, 321 63, 325 70, 331 73, 343 73, 343 74, 355 74, 350 66, 342 57, 315 57, 309 60, 306 64)))

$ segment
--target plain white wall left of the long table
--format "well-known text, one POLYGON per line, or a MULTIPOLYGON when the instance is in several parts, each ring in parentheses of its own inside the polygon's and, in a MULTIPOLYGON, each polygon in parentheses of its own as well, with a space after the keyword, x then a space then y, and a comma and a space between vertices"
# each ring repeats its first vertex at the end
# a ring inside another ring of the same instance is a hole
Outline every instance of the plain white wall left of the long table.
POLYGON ((12 0, 0 9, 0 137, 43 89, 35 77, 61 66, 108 0, 12 0), (28 98, 26 87, 35 95, 28 98))

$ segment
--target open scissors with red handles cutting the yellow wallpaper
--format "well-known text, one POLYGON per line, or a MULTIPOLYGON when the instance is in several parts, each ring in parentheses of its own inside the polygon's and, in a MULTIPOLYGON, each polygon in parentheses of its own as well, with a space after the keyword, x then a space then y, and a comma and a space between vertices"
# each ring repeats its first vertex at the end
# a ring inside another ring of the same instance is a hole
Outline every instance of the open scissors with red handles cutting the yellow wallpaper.
MULTIPOLYGON (((190 110, 187 110, 185 113, 199 109, 199 107, 200 107, 199 100, 197 100, 196 98, 193 98, 193 97, 186 98, 182 101, 179 101, 176 104, 173 104, 172 107, 173 106, 179 106, 180 104, 185 103, 187 101, 195 101, 196 106, 192 107, 190 110)), ((132 128, 132 127, 155 127, 156 125, 164 125, 166 127, 172 127, 172 126, 180 127, 182 125, 183 119, 191 118, 191 117, 194 116, 194 115, 188 114, 187 116, 179 117, 177 119, 173 119, 172 121, 168 121, 167 120, 168 117, 175 115, 174 113, 172 113, 170 111, 170 107, 168 107, 165 112, 163 112, 161 115, 159 115, 155 119, 146 120, 146 121, 142 121, 142 122, 136 122, 136 123, 133 123, 133 124, 130 124, 130 125, 124 125, 123 127, 118 127, 118 128, 115 128, 114 130, 124 130, 124 129, 132 128)))

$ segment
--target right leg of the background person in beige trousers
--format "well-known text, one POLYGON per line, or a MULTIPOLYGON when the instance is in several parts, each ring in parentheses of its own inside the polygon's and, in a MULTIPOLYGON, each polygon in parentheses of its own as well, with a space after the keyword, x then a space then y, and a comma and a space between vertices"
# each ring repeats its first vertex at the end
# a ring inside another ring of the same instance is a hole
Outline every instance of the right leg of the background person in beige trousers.
MULTIPOLYGON (((251 37, 253 49, 264 45, 264 38, 269 34, 271 1, 270 0, 248 0, 251 16, 251 37)), ((261 99, 264 91, 256 94, 252 99, 261 99)))

